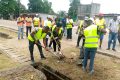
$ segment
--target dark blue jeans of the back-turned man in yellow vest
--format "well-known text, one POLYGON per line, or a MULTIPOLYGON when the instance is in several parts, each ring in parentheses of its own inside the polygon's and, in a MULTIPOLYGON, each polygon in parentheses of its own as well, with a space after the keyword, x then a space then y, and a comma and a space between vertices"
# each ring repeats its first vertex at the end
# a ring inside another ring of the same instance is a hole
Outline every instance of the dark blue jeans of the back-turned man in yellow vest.
POLYGON ((90 65, 89 65, 90 71, 94 70, 94 58, 95 58, 96 51, 97 51, 97 48, 85 48, 83 67, 86 68, 88 57, 90 56, 90 65))

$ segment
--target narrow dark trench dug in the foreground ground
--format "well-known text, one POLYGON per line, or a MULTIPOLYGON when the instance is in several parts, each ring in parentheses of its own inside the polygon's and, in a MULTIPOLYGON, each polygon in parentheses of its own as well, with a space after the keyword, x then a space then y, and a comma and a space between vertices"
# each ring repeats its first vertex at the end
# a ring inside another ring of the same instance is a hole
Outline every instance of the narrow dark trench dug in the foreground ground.
POLYGON ((66 75, 61 74, 59 71, 52 69, 51 67, 42 64, 41 62, 35 63, 32 65, 35 69, 42 71, 47 80, 72 80, 66 75))

